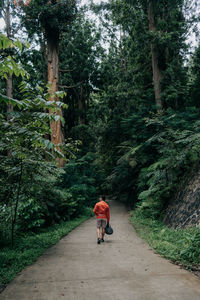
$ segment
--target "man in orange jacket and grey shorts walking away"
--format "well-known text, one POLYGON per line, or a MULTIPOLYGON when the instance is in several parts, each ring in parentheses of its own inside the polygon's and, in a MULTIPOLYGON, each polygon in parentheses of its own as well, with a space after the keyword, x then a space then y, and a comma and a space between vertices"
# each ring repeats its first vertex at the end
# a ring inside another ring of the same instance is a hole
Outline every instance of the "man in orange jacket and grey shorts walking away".
POLYGON ((105 202, 105 196, 101 196, 96 203, 93 212, 97 217, 97 244, 104 242, 105 228, 110 222, 110 208, 105 202))

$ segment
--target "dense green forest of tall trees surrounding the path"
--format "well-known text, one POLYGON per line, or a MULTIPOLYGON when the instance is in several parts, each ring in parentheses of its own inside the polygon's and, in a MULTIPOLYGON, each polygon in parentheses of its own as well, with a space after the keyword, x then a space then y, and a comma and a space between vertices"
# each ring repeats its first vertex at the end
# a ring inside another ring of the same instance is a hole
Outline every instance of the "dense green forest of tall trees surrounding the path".
MULTIPOLYGON (((199 170, 198 11, 197 0, 0 0, 2 248, 90 215, 102 193, 162 224, 199 170)), ((198 263, 191 239, 181 255, 198 263)))

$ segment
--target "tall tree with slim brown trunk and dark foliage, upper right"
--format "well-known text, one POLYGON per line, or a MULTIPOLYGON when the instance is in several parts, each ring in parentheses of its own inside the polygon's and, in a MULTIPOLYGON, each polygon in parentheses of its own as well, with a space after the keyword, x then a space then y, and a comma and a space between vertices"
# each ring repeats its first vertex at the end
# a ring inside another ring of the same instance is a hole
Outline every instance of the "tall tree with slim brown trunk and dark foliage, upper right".
POLYGON ((152 57, 152 74, 155 103, 158 110, 182 105, 185 86, 183 67, 186 50, 186 21, 184 1, 126 0, 144 16, 148 24, 144 39, 149 43, 152 57), (179 76, 177 76, 179 74, 179 76), (168 88, 168 87, 171 88, 168 88))

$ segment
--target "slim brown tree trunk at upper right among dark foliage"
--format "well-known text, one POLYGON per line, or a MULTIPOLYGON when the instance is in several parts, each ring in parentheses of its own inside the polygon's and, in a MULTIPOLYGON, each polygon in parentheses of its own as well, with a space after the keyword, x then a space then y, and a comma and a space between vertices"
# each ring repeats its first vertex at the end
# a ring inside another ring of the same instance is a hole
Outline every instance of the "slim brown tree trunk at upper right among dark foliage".
MULTIPOLYGON (((148 2, 148 19, 149 19, 149 30, 152 32, 156 32, 153 0, 149 0, 148 2)), ((156 100, 156 105, 158 107, 158 111, 160 111, 163 108, 163 103, 161 101, 161 87, 160 87, 160 83, 163 76, 162 76, 162 71, 159 68, 159 64, 158 64, 158 59, 159 59, 158 50, 156 49, 153 43, 151 43, 151 55, 152 55, 152 70, 153 70, 155 100, 156 100)))

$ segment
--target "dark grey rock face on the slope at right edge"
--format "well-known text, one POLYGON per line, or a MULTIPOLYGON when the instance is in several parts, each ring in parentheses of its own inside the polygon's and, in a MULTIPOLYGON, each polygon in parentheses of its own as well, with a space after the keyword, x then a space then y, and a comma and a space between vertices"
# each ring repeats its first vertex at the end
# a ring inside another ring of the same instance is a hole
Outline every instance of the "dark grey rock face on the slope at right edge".
POLYGON ((176 229, 200 225, 200 171, 182 185, 166 210, 164 223, 176 229))

